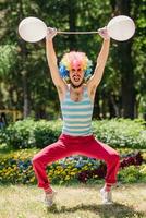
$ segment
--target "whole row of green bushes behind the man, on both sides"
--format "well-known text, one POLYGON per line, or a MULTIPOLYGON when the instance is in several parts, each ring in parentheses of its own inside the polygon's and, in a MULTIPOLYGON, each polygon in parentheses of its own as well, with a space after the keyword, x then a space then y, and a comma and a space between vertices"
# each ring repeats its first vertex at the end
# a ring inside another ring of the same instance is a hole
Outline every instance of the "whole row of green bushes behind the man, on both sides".
MULTIPOLYGON (((13 148, 42 148, 54 143, 61 134, 61 121, 34 121, 26 119, 0 131, 0 143, 13 148)), ((93 121, 96 137, 115 148, 146 148, 146 129, 144 121, 112 119, 93 121)))

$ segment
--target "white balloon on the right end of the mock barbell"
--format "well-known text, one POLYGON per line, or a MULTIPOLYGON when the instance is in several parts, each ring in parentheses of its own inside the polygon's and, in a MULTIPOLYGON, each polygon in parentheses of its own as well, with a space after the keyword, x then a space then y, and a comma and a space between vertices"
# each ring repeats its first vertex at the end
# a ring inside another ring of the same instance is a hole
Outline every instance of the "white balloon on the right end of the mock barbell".
POLYGON ((107 25, 111 38, 123 41, 130 39, 135 33, 133 20, 125 15, 114 16, 107 25))

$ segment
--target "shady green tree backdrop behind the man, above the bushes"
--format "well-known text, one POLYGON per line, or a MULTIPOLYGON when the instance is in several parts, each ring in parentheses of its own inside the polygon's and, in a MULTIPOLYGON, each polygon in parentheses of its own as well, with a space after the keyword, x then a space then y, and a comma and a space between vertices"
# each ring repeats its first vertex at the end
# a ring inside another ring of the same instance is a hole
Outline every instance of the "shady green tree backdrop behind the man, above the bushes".
MULTIPOLYGON (((37 44, 23 41, 17 34, 22 19, 37 16, 48 26, 60 31, 96 31, 107 25, 113 15, 125 14, 134 19, 136 33, 129 41, 111 41, 109 60, 96 94, 94 117, 145 118, 145 2, 146 0, 2 0, 1 107, 20 109, 24 117, 60 117, 57 90, 46 61, 45 40, 37 44), (129 11, 124 11, 124 7, 129 11)), ((81 50, 87 52, 96 63, 101 39, 97 35, 58 35, 54 47, 58 60, 69 50, 81 50)))

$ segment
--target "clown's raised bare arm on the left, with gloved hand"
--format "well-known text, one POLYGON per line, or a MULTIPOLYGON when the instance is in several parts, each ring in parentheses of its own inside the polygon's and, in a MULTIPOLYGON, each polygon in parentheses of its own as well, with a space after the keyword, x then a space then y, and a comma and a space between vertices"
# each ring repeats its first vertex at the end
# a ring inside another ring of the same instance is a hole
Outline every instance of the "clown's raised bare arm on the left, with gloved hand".
POLYGON ((65 88, 65 83, 60 76, 57 56, 53 48, 52 39, 56 35, 57 35, 57 29, 48 27, 46 36, 46 52, 47 52, 46 55, 53 84, 56 85, 57 89, 61 92, 62 88, 65 88))

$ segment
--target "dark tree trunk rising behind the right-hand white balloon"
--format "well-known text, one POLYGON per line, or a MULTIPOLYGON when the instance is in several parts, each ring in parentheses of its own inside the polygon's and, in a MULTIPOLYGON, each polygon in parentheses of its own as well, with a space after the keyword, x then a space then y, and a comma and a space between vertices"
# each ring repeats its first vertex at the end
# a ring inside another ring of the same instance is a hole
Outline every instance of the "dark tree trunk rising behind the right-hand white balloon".
MULTIPOLYGON (((115 14, 130 16, 131 1, 117 0, 115 14)), ((132 64, 132 39, 118 43, 119 68, 122 75, 122 117, 134 118, 135 89, 132 64)))

